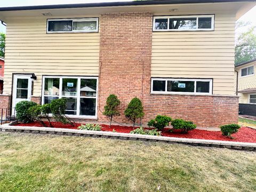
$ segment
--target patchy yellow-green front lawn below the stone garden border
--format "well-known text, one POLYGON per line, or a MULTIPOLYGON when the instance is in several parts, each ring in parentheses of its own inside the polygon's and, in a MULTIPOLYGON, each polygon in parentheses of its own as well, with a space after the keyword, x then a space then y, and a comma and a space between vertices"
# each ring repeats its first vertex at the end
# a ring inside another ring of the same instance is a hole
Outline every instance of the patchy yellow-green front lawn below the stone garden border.
POLYGON ((3 132, 0 143, 0 191, 256 191, 250 151, 3 132))

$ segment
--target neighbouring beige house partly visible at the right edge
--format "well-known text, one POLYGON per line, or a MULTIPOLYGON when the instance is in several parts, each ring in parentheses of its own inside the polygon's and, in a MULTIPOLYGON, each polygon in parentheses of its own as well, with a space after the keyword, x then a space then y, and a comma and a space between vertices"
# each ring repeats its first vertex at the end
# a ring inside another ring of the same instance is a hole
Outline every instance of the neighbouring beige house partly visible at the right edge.
POLYGON ((235 88, 239 96, 239 113, 256 116, 256 59, 235 67, 235 88))

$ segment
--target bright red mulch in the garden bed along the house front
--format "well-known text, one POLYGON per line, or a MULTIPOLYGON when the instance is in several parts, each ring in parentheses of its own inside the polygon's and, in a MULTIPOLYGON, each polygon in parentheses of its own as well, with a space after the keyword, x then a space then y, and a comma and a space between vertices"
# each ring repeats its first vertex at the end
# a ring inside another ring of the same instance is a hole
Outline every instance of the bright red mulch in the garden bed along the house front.
MULTIPOLYGON (((46 125, 49 126, 48 122, 45 122, 46 125)), ((55 128, 65 128, 65 129, 77 129, 81 124, 76 124, 75 126, 71 126, 69 124, 63 124, 60 122, 52 122, 52 125, 55 128)), ((42 127, 42 124, 38 122, 34 123, 19 123, 16 126, 38 126, 42 127)), ((109 129, 109 125, 101 125, 102 131, 113 131, 115 129, 116 132, 119 133, 130 133, 133 130, 133 127, 119 126, 119 125, 111 125, 111 129, 109 129)), ((221 140, 221 141, 237 141, 237 142, 256 142, 256 130, 250 129, 248 127, 241 127, 237 133, 234 133, 232 136, 235 139, 230 139, 221 134, 220 131, 206 131, 206 130, 198 130, 195 129, 193 131, 189 131, 186 134, 181 133, 179 130, 174 130, 170 132, 170 129, 164 129, 162 132, 162 136, 166 137, 176 137, 176 138, 190 138, 190 139, 207 139, 207 140, 221 140)))

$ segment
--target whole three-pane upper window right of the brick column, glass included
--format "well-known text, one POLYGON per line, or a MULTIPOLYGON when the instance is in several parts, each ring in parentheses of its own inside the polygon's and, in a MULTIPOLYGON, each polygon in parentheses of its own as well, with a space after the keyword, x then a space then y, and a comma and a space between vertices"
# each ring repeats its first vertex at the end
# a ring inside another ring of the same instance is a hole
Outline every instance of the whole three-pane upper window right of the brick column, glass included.
POLYGON ((154 31, 213 30, 214 15, 154 17, 154 31))

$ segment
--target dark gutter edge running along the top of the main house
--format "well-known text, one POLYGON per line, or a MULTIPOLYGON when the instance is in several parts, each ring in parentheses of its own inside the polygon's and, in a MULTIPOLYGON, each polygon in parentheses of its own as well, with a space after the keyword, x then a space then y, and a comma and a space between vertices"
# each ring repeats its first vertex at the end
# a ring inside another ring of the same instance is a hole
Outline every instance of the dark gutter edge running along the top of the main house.
POLYGON ((157 5, 157 4, 183 4, 183 3, 221 3, 221 2, 253 2, 255 0, 152 0, 131 2, 105 2, 84 4, 62 4, 62 5, 35 5, 0 7, 0 11, 42 10, 42 9, 67 9, 81 7, 104 7, 104 6, 129 6, 129 5, 157 5))

